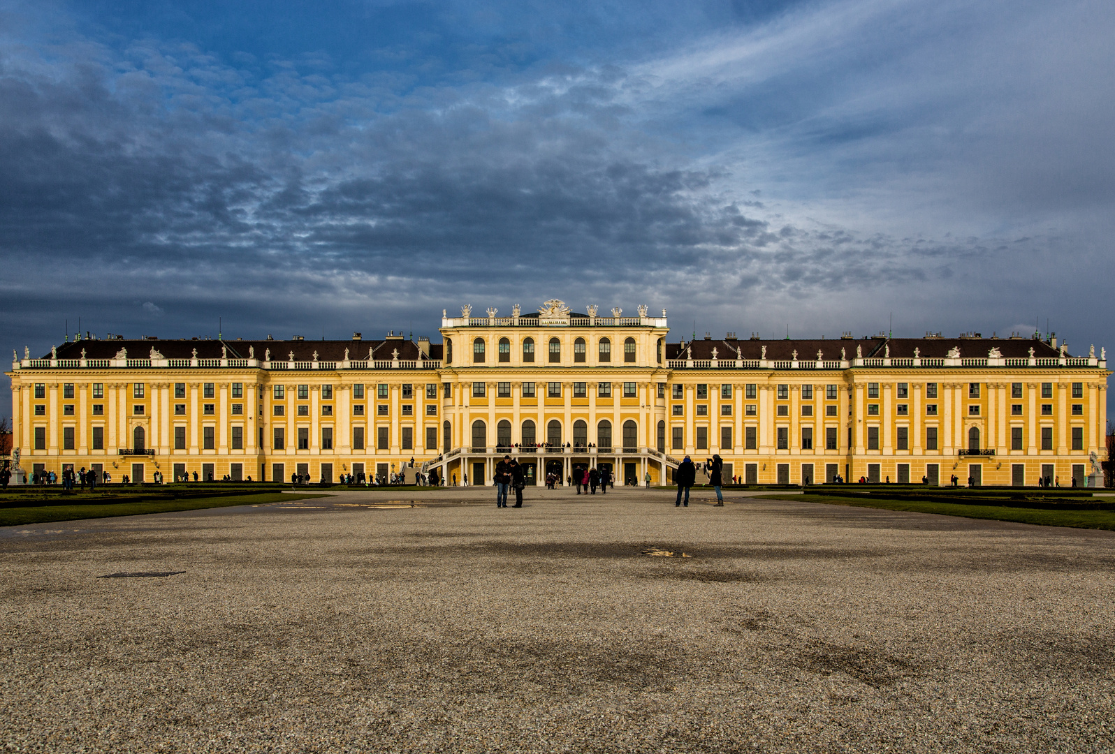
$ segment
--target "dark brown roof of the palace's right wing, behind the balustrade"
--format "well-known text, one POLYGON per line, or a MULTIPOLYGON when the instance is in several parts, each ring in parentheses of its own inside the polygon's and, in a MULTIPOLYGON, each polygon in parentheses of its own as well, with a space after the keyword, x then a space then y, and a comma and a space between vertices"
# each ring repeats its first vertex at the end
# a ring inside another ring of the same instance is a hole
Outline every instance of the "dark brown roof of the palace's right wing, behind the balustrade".
POLYGON ((691 349, 694 359, 711 359, 716 349, 717 359, 735 360, 737 351, 740 358, 754 360, 763 358, 763 346, 766 346, 766 358, 776 361, 789 361, 797 351, 799 361, 816 361, 817 351, 825 361, 836 361, 844 349, 845 358, 855 359, 856 346, 862 349, 863 358, 881 358, 890 347, 894 359, 912 359, 914 349, 920 356, 927 359, 943 359, 953 347, 960 349, 963 358, 985 358, 991 349, 1007 358, 1026 358, 1034 349, 1034 355, 1056 356, 1057 349, 1045 341, 1009 340, 1000 337, 869 337, 865 340, 697 340, 688 343, 667 343, 667 359, 686 359, 686 349, 691 349))

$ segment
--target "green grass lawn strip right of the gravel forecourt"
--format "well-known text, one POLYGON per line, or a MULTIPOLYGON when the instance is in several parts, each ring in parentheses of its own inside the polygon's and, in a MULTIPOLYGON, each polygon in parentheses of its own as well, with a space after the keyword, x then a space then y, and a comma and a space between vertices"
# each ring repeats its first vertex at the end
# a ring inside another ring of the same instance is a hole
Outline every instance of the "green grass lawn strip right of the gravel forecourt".
POLYGON ((755 500, 787 500, 823 502, 851 508, 881 508, 883 510, 938 513, 962 518, 983 518, 992 521, 1015 521, 1038 526, 1064 526, 1076 529, 1115 530, 1115 512, 1106 510, 1045 510, 1034 508, 1002 508, 999 506, 966 506, 954 502, 911 502, 909 500, 865 500, 863 498, 832 498, 824 494, 755 496, 755 500))

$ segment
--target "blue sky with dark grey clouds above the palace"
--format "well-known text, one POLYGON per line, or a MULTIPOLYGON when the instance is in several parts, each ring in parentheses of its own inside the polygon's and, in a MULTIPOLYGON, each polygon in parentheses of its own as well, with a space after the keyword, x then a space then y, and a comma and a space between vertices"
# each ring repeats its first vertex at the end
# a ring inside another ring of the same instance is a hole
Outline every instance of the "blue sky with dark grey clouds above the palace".
POLYGON ((0 347, 550 297, 1115 347, 1112 39, 1099 0, 0 0, 0 347))

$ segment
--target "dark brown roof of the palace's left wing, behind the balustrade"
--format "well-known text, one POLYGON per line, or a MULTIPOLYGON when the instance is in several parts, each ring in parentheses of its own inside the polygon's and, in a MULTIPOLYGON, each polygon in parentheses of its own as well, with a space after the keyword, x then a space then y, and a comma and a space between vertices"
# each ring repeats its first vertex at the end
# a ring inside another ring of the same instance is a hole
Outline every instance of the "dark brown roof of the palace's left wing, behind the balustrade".
MULTIPOLYGON (((152 349, 158 351, 165 359, 190 359, 194 349, 198 359, 220 359, 221 346, 229 349, 230 359, 248 359, 250 349, 254 349, 255 358, 263 359, 268 350, 272 361, 287 361, 293 351, 294 361, 311 361, 318 353, 320 361, 342 361, 345 350, 349 359, 363 361, 368 359, 368 349, 372 350, 372 359, 391 359, 391 352, 398 349, 403 361, 418 360, 418 344, 406 340, 362 340, 362 341, 151 341, 151 340, 113 340, 113 341, 75 341, 58 346, 59 359, 80 359, 85 350, 87 359, 112 359, 120 349, 127 349, 132 359, 147 359, 152 349)), ((47 353, 43 359, 49 359, 47 353)), ((429 359, 442 358, 442 344, 432 343, 429 359)))

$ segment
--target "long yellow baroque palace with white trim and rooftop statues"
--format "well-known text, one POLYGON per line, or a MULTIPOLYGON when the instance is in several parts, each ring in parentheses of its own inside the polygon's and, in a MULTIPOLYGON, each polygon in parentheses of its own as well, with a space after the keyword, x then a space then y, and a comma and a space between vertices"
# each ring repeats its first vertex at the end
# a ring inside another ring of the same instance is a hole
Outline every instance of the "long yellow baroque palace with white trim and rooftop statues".
POLYGON ((668 483, 719 453, 744 483, 1032 486, 1105 457, 1105 353, 1055 337, 670 341, 666 312, 547 301, 443 311, 442 343, 85 337, 12 362, 21 468, 149 481, 312 481, 437 469, 491 483, 505 453, 668 483), (411 466, 413 463, 413 466, 411 466))

